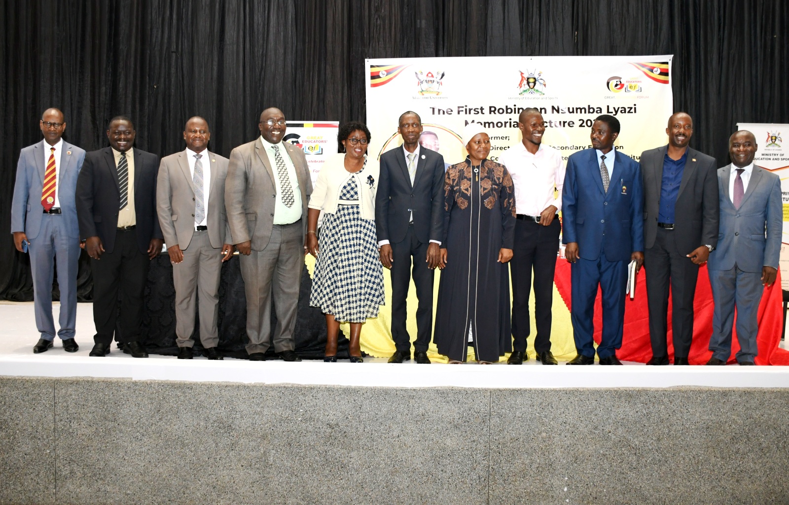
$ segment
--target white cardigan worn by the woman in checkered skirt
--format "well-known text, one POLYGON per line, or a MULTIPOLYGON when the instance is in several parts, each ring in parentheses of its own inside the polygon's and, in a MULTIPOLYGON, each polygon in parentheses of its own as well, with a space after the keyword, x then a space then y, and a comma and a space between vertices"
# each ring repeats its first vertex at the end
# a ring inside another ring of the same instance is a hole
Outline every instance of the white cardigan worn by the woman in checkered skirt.
POLYGON ((309 208, 336 214, 342 187, 351 178, 356 179, 359 191, 359 210, 362 219, 376 219, 376 189, 378 188, 378 160, 368 156, 367 165, 361 173, 350 173, 345 169, 345 154, 334 154, 323 163, 315 188, 309 197, 309 208))

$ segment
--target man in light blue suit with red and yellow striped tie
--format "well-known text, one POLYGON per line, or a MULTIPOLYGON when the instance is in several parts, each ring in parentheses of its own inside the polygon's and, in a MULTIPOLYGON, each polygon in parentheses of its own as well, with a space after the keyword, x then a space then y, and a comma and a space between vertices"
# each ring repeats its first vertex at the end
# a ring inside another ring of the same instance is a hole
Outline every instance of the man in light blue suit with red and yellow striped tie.
POLYGON ((25 147, 19 154, 11 203, 11 232, 17 251, 24 251, 23 244, 29 244, 36 327, 41 333, 33 352, 44 352, 53 346, 52 278, 56 262, 60 288, 58 336, 65 351, 77 352, 80 347, 74 340, 74 326, 80 229, 74 191, 85 151, 62 139, 65 118, 60 110, 45 110, 39 127, 43 140, 25 147))

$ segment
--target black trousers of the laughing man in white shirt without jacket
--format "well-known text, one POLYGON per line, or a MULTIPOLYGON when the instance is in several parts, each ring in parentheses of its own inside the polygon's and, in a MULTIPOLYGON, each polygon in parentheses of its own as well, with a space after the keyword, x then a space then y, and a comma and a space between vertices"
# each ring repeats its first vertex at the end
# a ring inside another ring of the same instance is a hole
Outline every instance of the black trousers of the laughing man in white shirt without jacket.
POLYGON ((534 350, 551 350, 551 321, 553 305, 553 274, 556 270, 556 253, 559 251, 559 232, 562 227, 554 218, 548 226, 534 221, 515 221, 515 240, 510 273, 512 274, 512 347, 514 351, 526 350, 526 337, 530 332, 529 291, 534 272, 534 320, 537 336, 534 350))

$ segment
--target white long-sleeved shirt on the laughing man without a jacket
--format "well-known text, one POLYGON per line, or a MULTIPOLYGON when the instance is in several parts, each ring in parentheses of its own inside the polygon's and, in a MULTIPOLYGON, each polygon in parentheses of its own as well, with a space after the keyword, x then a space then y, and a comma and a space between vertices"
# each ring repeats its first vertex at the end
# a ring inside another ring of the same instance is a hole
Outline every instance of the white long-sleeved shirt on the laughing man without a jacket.
POLYGON ((507 167, 515 186, 518 214, 539 216, 548 206, 562 210, 565 165, 559 150, 541 143, 531 154, 522 142, 505 150, 499 163, 507 167))

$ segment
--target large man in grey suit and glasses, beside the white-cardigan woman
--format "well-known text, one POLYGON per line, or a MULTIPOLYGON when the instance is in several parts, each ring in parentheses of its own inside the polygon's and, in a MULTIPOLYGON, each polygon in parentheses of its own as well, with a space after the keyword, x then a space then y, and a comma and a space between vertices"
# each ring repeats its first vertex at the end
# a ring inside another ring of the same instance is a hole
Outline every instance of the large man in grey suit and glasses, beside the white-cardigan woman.
POLYGON ((312 181, 304 151, 282 142, 286 122, 281 110, 264 110, 258 128, 258 139, 230 153, 225 182, 227 221, 242 254, 246 350, 252 361, 263 361, 273 345, 285 361, 301 361, 294 351, 294 327, 312 181), (277 311, 273 336, 269 295, 277 311))

